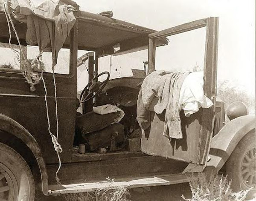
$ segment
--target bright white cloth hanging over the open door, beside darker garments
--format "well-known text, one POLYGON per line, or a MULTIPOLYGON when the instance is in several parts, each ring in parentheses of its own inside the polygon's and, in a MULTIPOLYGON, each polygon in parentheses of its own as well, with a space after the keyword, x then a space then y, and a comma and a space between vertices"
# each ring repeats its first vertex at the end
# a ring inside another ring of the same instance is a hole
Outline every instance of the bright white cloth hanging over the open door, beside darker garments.
POLYGON ((204 95, 204 72, 189 73, 180 89, 179 109, 183 109, 189 117, 200 107, 209 108, 212 105, 212 101, 204 95))

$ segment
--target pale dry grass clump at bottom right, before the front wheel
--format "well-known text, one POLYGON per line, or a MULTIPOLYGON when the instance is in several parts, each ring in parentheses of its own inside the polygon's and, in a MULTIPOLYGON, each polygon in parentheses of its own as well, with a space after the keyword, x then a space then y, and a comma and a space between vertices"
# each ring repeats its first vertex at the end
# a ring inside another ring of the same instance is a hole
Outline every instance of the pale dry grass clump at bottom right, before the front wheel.
POLYGON ((192 174, 189 177, 192 198, 187 199, 182 195, 185 201, 243 201, 249 192, 233 192, 227 176, 212 174, 207 179, 204 173, 199 173, 197 176, 192 174))

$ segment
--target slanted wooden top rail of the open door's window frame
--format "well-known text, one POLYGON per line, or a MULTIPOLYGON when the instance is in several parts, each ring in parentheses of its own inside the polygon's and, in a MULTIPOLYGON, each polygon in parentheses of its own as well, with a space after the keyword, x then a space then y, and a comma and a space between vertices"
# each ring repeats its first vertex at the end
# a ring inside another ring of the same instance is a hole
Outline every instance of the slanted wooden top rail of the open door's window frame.
POLYGON ((193 29, 199 29, 207 25, 207 19, 201 19, 201 20, 196 20, 193 22, 185 23, 182 25, 178 25, 169 29, 162 30, 160 32, 155 32, 152 34, 149 34, 149 38, 160 38, 160 37, 166 37, 166 36, 171 36, 175 34, 180 34, 183 32, 188 32, 193 29))

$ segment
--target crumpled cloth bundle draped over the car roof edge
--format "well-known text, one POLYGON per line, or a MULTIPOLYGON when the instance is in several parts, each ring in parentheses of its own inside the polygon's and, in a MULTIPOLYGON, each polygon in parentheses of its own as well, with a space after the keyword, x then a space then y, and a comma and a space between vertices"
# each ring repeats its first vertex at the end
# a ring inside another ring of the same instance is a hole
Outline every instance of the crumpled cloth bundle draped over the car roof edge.
POLYGON ((76 22, 73 11, 79 6, 72 0, 45 0, 33 7, 29 0, 10 0, 9 11, 16 20, 27 23, 26 42, 38 44, 40 52, 52 52, 52 66, 58 52, 76 22))

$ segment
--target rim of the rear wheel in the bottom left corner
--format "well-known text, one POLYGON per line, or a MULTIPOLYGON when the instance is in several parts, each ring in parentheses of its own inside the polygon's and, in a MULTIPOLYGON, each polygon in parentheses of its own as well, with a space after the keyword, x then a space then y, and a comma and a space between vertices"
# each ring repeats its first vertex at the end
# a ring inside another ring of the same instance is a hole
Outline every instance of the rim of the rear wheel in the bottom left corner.
POLYGON ((0 200, 13 201, 17 198, 17 181, 11 170, 0 163, 0 200))

